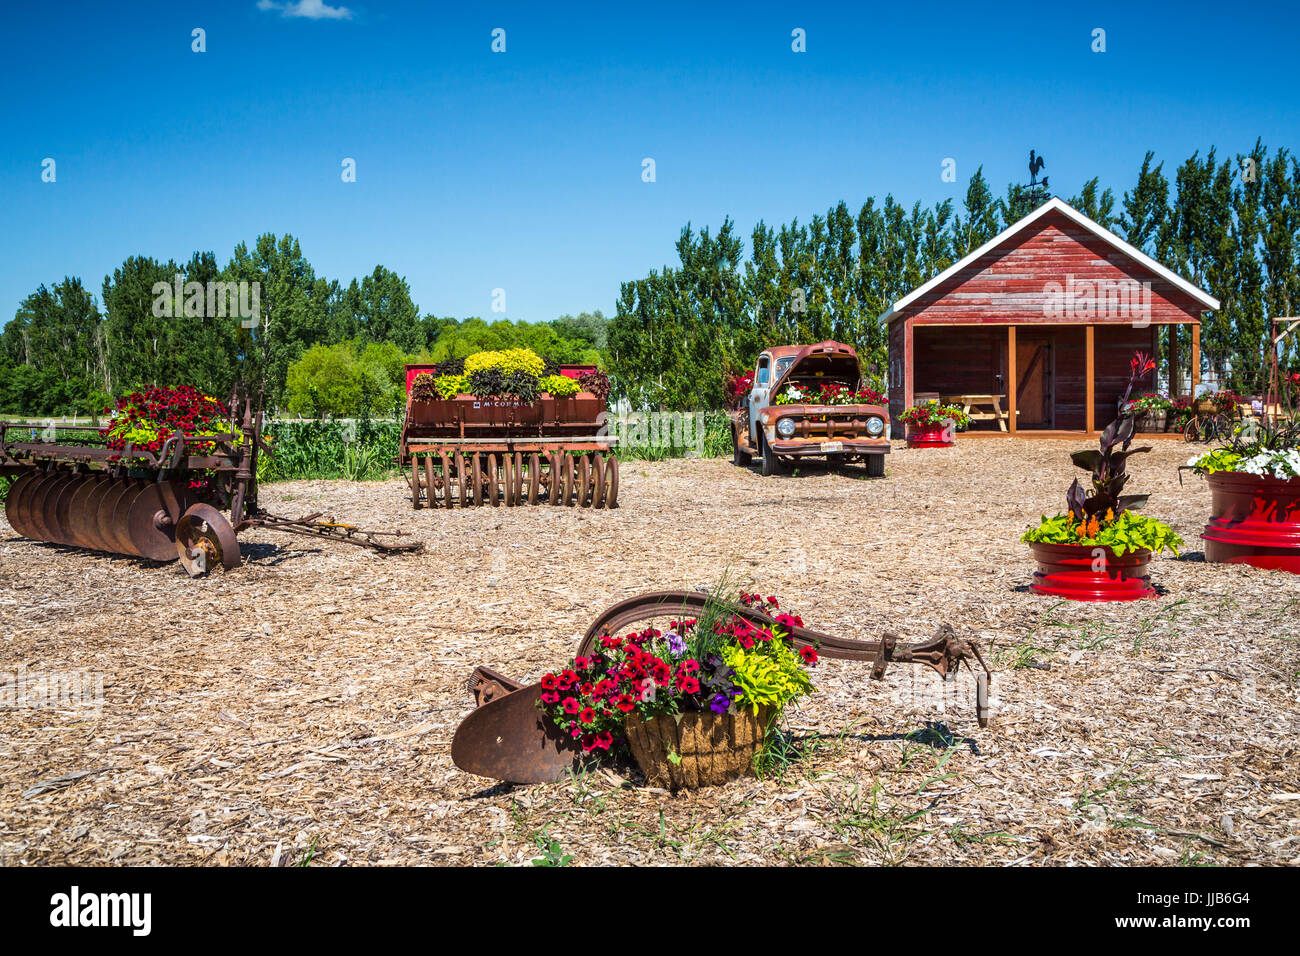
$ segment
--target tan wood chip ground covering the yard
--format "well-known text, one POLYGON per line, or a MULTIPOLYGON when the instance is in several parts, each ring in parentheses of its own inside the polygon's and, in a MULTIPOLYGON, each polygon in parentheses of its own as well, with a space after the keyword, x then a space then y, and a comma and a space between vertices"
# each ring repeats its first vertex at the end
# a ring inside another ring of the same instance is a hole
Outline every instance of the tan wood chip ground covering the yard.
POLYGON ((1209 492, 1158 442, 1132 488, 1187 541, 1162 596, 1030 593, 1019 533, 1086 444, 896 445, 878 481, 628 462, 594 512, 278 484, 273 511, 426 550, 254 532, 203 580, 0 522, 0 672, 103 675, 99 715, 0 709, 0 864, 1300 864, 1300 576, 1206 564, 1209 492), (968 675, 826 661, 766 779, 670 796, 627 766, 511 787, 451 763, 474 665, 533 680, 606 606, 724 568, 831 633, 953 623, 996 662, 994 724, 968 675))

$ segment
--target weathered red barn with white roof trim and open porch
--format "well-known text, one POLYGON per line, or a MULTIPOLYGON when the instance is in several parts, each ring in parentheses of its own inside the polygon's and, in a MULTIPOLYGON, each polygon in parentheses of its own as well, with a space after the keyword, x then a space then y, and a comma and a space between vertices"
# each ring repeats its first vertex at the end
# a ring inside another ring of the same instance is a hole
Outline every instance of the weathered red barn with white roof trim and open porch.
POLYGON ((1164 341, 1166 381, 1195 394, 1201 316, 1218 307, 1052 198, 880 316, 889 412, 897 418, 918 395, 937 394, 968 405, 975 428, 1095 432, 1114 419, 1138 350, 1158 355, 1164 341), (1178 371, 1178 337, 1161 334, 1178 325, 1191 326, 1187 375, 1178 371))

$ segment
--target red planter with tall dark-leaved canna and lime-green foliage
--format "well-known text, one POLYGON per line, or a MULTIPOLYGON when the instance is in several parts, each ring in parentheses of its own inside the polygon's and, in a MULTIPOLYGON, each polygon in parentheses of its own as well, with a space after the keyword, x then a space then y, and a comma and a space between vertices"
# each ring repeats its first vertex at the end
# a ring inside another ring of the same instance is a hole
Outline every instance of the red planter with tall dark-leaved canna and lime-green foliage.
MULTIPOLYGON (((1128 407, 1134 384, 1156 365, 1143 352, 1131 364, 1122 408, 1128 407)), ((1147 494, 1123 494, 1130 475, 1130 455, 1150 446, 1130 447, 1134 418, 1122 414, 1101 433, 1100 447, 1075 451, 1070 459, 1091 473, 1092 494, 1079 479, 1066 492, 1065 514, 1043 516, 1040 524, 1020 537, 1037 561, 1032 589, 1071 601, 1135 601, 1154 597, 1148 564, 1153 554, 1178 554, 1183 540, 1169 525, 1136 514, 1147 494)))

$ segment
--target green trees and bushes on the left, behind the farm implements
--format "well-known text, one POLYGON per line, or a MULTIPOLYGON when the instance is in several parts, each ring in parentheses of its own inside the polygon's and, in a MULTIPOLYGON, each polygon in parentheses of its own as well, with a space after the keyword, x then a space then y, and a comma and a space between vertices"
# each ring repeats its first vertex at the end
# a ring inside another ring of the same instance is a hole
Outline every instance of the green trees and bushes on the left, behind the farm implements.
POLYGON ((559 362, 599 363, 604 347, 599 311, 538 324, 421 315, 391 269, 376 265, 347 285, 328 280, 292 235, 239 243, 224 267, 212 252, 182 263, 130 256, 100 293, 65 277, 22 300, 0 330, 0 412, 92 414, 153 385, 225 397, 239 381, 264 382, 273 411, 292 403, 313 415, 387 412, 408 360, 528 346, 559 362), (190 294, 240 282, 257 284, 255 317, 233 315, 220 295, 213 313, 211 294, 190 294))

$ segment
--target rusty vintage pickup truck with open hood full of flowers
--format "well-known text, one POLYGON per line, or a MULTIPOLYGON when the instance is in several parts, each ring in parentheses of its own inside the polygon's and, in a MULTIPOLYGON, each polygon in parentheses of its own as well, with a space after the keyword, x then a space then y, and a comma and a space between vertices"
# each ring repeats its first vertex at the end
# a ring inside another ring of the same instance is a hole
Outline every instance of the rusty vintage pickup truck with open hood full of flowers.
POLYGON ((858 354, 840 342, 783 345, 758 356, 753 384, 731 411, 732 460, 760 457, 764 475, 796 458, 863 460, 883 477, 889 454, 889 410, 862 384, 858 354))

